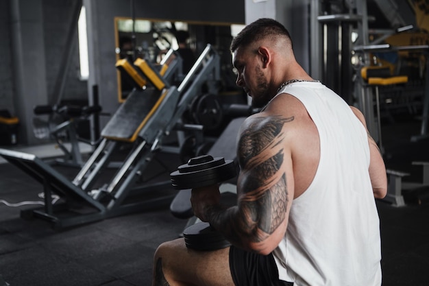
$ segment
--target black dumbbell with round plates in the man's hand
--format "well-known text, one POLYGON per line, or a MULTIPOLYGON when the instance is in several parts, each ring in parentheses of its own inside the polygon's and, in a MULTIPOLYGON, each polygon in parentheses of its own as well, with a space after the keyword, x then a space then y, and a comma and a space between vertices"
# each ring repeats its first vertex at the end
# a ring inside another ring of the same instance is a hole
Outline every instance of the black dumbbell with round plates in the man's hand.
MULTIPOLYGON (((236 176, 233 160, 210 155, 198 156, 177 167, 170 174, 175 189, 196 189, 219 184, 236 176)), ((201 190, 202 191, 202 190, 201 190)), ((193 250, 217 250, 230 246, 230 242, 207 222, 188 226, 183 232, 187 248, 193 250)))

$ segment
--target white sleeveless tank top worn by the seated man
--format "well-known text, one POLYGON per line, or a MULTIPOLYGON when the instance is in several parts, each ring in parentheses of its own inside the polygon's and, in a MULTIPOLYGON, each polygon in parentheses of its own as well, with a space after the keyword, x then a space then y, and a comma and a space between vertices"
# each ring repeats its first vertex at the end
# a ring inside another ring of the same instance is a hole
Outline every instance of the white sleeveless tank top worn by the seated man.
POLYGON ((299 99, 317 126, 320 161, 310 187, 293 200, 286 235, 273 251, 280 279, 295 286, 380 286, 379 217, 363 124, 319 82, 289 84, 281 93, 299 99))

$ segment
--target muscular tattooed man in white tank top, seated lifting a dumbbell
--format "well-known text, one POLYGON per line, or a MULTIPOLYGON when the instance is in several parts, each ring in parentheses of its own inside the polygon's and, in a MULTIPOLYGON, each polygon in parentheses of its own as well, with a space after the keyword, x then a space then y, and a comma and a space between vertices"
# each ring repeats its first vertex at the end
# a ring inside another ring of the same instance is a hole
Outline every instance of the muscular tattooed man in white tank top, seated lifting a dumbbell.
POLYGON ((381 285, 374 197, 387 176, 362 113, 310 78, 277 21, 247 25, 231 51, 236 84, 263 109, 238 134, 237 205, 219 205, 217 186, 191 202, 232 246, 163 243, 154 285, 381 285))

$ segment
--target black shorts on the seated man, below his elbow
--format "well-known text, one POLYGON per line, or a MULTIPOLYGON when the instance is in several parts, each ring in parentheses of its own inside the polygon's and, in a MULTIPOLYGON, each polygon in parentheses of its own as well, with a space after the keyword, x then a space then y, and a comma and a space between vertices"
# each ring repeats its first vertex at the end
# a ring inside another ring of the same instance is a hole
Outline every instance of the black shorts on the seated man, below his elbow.
POLYGON ((279 280, 273 254, 265 256, 231 246, 230 269, 236 286, 293 285, 279 280))

